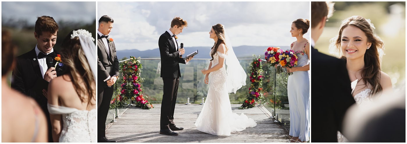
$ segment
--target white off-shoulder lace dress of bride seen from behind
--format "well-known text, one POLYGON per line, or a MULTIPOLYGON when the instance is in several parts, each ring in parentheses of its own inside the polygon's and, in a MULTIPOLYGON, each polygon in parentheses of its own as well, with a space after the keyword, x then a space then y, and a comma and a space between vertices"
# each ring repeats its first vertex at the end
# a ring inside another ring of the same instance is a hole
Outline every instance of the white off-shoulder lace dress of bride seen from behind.
POLYGON ((62 116, 59 142, 96 142, 96 109, 78 110, 48 103, 48 111, 62 116))

